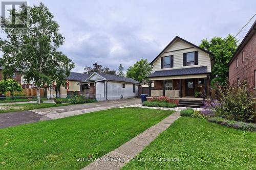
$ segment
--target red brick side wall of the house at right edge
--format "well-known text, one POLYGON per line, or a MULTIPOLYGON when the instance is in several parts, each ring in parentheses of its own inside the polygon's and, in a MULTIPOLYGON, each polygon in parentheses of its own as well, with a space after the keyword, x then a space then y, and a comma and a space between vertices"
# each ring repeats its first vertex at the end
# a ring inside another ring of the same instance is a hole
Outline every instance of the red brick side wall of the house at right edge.
POLYGON ((255 75, 256 70, 256 34, 244 46, 242 51, 238 54, 238 67, 236 68, 236 58, 229 66, 229 85, 236 86, 239 78, 240 84, 246 80, 248 88, 256 96, 255 90, 255 75), (244 62, 242 62, 242 51, 244 51, 244 62))

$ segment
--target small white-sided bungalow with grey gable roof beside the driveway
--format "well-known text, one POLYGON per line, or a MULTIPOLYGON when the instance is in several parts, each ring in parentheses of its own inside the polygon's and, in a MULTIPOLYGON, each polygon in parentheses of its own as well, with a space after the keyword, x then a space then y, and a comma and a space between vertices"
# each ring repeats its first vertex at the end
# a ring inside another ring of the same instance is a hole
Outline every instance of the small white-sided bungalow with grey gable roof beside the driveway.
POLYGON ((103 101, 135 98, 139 82, 132 78, 94 72, 88 79, 77 84, 85 95, 103 101))

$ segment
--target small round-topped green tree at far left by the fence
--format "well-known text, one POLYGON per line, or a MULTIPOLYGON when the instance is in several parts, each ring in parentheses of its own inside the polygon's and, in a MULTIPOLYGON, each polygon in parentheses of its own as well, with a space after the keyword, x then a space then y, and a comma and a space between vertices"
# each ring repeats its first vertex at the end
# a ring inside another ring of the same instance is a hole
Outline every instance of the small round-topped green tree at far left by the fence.
POLYGON ((7 91, 11 92, 11 96, 13 96, 13 91, 22 91, 23 88, 16 80, 7 79, 0 81, 0 92, 6 93, 7 91))

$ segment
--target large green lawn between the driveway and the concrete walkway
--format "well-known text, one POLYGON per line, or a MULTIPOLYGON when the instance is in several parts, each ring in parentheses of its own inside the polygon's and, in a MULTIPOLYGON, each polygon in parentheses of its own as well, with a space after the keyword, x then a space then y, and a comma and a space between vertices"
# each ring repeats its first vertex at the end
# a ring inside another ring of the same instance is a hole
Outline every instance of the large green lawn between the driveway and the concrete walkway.
POLYGON ((109 109, 0 129, 0 169, 80 169, 91 162, 77 158, 101 157, 171 113, 109 109))

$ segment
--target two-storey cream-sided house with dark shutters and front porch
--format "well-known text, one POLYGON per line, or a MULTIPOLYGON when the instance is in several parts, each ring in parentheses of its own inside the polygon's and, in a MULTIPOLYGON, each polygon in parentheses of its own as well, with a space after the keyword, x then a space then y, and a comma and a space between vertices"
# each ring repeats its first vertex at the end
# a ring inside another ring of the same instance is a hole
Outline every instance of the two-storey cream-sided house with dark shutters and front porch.
POLYGON ((210 95, 210 74, 214 55, 176 36, 151 62, 154 82, 151 96, 194 97, 195 91, 210 95))

